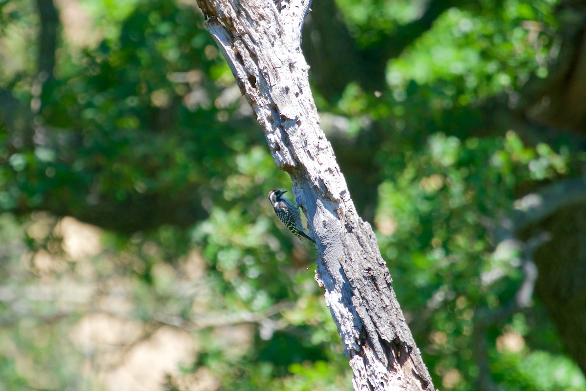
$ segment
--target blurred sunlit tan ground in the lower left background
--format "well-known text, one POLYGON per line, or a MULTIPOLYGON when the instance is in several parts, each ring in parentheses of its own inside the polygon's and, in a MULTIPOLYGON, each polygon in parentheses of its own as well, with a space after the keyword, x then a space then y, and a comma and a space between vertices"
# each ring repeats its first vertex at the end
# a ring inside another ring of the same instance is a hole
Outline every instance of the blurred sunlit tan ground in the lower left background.
POLYGON ((209 369, 181 370, 197 357, 197 330, 219 319, 218 341, 241 351, 251 342, 253 329, 238 325, 238 319, 234 324, 221 317, 187 322, 174 305, 165 305, 165 300, 185 300, 193 312, 206 312, 210 296, 200 283, 205 266, 195 251, 177 267, 156 264, 155 282, 145 291, 145 284, 125 271, 140 260, 129 251, 105 248, 97 227, 35 213, 26 233, 49 241, 46 249, 24 251, 0 288, 0 302, 11 314, 2 316, 1 325, 25 340, 0 332, 0 349, 14 358, 16 371, 30 385, 54 386, 53 376, 43 373, 57 365, 78 374, 78 389, 148 391, 166 385, 213 391, 220 382, 209 369), (35 348, 19 349, 23 344, 35 348), (46 361, 33 356, 39 350, 46 361))

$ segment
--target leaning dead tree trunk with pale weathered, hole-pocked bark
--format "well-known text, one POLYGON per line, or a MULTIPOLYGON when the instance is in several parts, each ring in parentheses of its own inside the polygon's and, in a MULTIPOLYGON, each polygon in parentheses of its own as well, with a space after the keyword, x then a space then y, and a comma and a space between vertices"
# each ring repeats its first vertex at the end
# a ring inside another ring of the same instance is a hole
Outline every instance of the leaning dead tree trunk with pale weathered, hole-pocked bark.
POLYGON ((315 279, 325 288, 350 357, 355 390, 434 390, 376 237, 357 215, 319 128, 301 53, 301 28, 311 0, 198 2, 308 217, 317 242, 315 279))

